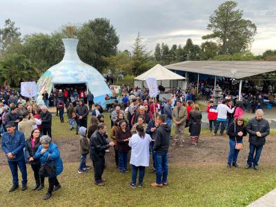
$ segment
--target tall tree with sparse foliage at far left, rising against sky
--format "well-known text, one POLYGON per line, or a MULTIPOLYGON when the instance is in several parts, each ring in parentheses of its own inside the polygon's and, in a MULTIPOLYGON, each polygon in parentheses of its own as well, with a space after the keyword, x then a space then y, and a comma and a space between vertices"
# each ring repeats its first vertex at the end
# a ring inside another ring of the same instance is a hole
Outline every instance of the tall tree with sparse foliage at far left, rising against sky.
POLYGON ((6 19, 4 28, 0 28, 0 57, 14 43, 20 43, 20 28, 15 27, 14 21, 6 19))

